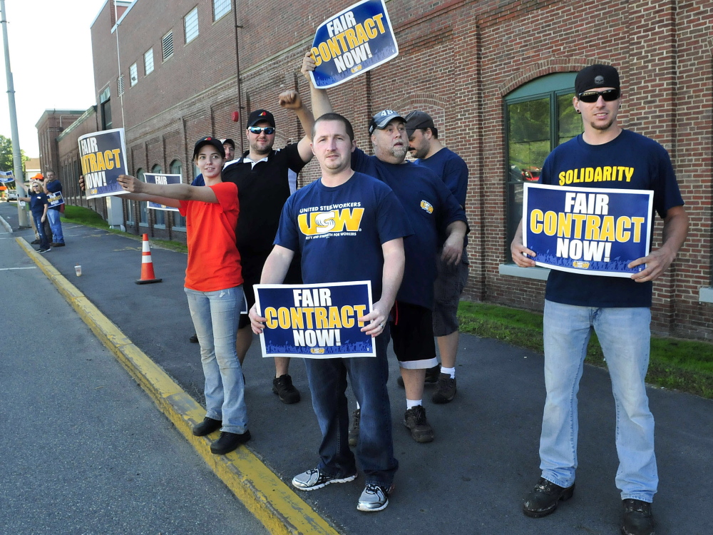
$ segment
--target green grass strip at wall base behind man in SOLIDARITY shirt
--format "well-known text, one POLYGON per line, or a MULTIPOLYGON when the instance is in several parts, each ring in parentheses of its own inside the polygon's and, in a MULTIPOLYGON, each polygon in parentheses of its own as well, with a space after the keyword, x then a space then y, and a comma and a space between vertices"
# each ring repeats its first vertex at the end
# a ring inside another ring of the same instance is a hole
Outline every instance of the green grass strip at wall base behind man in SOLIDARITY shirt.
MULTIPOLYGON (((461 332, 543 353, 542 314, 515 308, 461 301, 461 332)), ((585 362, 606 367, 597 335, 587 348, 585 362)), ((713 399, 713 344, 670 337, 651 337, 647 382, 713 399)))

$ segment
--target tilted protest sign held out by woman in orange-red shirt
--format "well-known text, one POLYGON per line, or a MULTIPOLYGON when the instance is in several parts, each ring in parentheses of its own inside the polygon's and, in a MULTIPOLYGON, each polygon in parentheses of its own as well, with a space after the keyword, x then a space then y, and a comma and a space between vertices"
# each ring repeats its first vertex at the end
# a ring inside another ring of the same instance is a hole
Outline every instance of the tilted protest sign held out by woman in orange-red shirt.
POLYGON ((116 181, 128 175, 124 129, 114 128, 79 138, 79 156, 87 198, 125 193, 116 181))

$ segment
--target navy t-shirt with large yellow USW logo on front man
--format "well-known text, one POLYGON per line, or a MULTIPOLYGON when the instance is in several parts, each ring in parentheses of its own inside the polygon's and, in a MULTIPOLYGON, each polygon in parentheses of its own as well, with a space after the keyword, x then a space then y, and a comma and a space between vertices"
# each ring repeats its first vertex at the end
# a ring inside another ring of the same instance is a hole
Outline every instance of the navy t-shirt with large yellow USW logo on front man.
POLYGON ((302 253, 305 284, 371 280, 376 302, 384 265, 381 245, 411 232, 391 188, 354 173, 335 188, 315 180, 287 199, 275 245, 302 253))

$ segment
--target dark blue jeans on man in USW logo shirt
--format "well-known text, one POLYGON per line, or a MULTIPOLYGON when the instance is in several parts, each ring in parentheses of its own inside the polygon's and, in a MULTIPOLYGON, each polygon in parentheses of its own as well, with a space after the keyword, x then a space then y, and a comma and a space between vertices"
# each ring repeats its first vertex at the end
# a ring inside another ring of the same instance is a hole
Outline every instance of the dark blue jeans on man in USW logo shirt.
POLYGON ((312 407, 322 430, 319 446, 319 470, 324 474, 346 477, 356 473, 354 454, 349 449, 349 410, 347 409, 347 374, 352 391, 361 407, 359 444, 356 457, 364 470, 366 484, 391 486, 399 462, 394 459, 391 437, 391 404, 386 380, 389 365, 388 323, 374 338, 376 357, 347 359, 304 359, 307 366, 312 407))

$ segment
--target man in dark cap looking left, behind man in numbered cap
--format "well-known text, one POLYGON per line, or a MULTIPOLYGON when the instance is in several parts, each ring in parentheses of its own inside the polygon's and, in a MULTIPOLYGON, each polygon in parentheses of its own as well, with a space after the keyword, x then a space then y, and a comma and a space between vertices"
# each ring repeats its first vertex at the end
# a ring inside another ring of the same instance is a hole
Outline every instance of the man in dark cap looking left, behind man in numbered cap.
MULTIPOLYGON (((468 165, 463 158, 444 147, 438 140, 434 119, 425 111, 412 111, 406 116, 409 151, 416 165, 424 165, 438 175, 466 207, 468 165)), ((426 382, 436 383, 431 397, 434 403, 448 403, 456 397, 456 355, 458 353, 458 302, 468 282, 468 253, 463 247, 460 262, 448 264, 438 260, 434 285, 434 335, 438 342, 441 365, 426 370, 426 382)), ((400 383, 399 383, 400 384, 400 383)))

